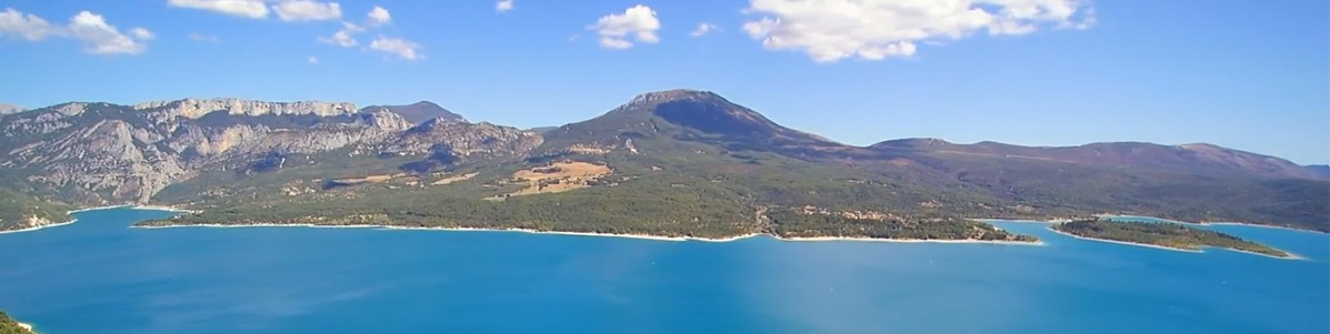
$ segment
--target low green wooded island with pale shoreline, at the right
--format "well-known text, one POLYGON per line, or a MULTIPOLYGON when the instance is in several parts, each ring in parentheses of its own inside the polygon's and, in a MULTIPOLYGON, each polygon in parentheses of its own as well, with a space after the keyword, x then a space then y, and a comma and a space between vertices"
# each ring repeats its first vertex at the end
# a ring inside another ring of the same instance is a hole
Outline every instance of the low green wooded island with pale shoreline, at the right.
POLYGON ((1055 224, 1053 232, 1072 237, 1200 251, 1221 248, 1278 258, 1294 255, 1228 233, 1189 228, 1174 222, 1137 222, 1111 220, 1077 220, 1055 224))

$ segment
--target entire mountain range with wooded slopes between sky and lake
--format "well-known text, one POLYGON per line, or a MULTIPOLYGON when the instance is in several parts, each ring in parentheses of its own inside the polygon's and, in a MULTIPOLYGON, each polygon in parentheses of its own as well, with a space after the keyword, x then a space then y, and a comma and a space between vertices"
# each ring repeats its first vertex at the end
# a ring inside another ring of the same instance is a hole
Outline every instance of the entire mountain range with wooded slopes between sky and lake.
POLYGON ((1121 213, 1330 230, 1330 184, 1273 157, 1144 142, 859 148, 688 89, 544 133, 261 101, 61 104, 4 116, 0 132, 0 178, 23 192, 203 210, 158 225, 1015 241, 964 217, 1121 213))

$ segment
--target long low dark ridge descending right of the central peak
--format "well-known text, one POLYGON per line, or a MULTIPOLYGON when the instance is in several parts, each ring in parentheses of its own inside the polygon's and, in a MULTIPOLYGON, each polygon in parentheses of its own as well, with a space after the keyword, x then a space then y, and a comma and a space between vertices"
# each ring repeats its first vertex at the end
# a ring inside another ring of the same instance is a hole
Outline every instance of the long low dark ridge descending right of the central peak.
POLYGON ((1158 145, 1149 142, 1096 142, 1071 148, 1031 148, 984 141, 951 144, 936 138, 906 138, 870 146, 879 152, 930 152, 1095 165, 1112 169, 1169 170, 1210 176, 1270 178, 1323 178, 1291 161, 1209 144, 1158 145))

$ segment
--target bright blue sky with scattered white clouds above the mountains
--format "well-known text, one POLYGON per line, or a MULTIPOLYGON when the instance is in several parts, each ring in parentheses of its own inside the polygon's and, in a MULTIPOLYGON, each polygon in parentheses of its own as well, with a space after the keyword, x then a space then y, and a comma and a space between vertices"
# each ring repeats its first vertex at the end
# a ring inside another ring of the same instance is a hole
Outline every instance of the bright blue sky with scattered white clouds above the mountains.
POLYGON ((1210 142, 1330 162, 1326 1, 330 3, 0 0, 0 102, 430 100, 527 128, 694 88, 855 145, 1210 142))

